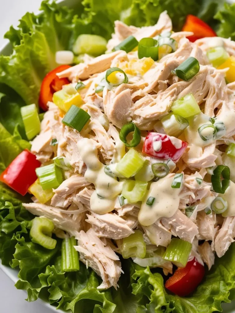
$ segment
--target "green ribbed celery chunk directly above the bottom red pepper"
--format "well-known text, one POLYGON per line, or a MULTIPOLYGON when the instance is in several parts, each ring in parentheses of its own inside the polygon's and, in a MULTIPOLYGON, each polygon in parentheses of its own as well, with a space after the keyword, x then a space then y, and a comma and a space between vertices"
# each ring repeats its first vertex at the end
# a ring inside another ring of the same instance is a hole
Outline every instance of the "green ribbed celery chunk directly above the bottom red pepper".
POLYGON ((178 267, 185 267, 189 254, 192 249, 192 244, 182 239, 173 238, 169 246, 166 248, 166 252, 163 255, 163 259, 170 261, 178 267))

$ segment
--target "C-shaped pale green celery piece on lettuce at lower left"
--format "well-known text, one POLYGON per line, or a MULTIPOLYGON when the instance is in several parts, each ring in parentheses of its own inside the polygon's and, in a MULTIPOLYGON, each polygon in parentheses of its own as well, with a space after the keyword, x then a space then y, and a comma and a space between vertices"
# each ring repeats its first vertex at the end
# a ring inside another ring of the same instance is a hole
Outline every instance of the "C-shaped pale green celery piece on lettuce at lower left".
POLYGON ((46 249, 54 249, 57 241, 51 238, 53 229, 52 221, 44 217, 35 217, 29 233, 32 242, 46 249))

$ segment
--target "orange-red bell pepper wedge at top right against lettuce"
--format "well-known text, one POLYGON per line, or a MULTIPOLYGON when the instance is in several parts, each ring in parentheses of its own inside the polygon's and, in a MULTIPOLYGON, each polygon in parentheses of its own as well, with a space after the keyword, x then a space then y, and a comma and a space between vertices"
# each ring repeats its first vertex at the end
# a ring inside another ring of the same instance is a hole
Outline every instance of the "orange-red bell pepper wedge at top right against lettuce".
POLYGON ((216 32, 208 24, 191 14, 187 15, 182 31, 194 33, 194 35, 187 37, 191 42, 204 37, 217 36, 216 32))

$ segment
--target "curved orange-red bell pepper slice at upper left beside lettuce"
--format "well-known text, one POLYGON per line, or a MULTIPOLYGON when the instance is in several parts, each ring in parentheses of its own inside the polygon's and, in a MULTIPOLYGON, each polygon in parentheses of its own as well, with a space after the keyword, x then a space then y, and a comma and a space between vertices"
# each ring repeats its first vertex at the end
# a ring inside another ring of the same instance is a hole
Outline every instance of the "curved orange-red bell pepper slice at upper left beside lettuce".
POLYGON ((54 92, 61 90, 63 85, 70 83, 67 78, 59 78, 56 75, 56 73, 62 72, 69 67, 70 65, 60 65, 44 77, 39 94, 39 106, 44 111, 48 110, 47 102, 52 101, 54 92))

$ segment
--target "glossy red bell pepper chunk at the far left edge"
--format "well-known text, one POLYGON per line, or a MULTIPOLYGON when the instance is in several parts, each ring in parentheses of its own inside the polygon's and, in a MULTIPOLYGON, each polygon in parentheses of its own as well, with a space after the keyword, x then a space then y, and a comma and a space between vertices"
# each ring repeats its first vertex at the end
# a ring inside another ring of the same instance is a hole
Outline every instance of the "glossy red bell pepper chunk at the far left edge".
POLYGON ((35 169, 41 163, 29 150, 22 151, 0 175, 0 181, 24 196, 37 180, 35 169))

